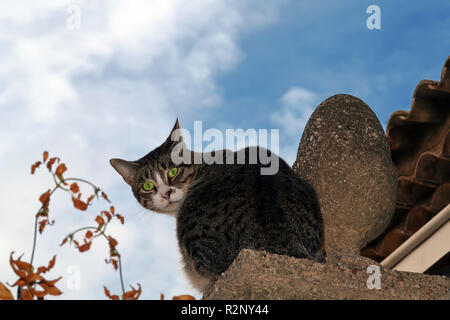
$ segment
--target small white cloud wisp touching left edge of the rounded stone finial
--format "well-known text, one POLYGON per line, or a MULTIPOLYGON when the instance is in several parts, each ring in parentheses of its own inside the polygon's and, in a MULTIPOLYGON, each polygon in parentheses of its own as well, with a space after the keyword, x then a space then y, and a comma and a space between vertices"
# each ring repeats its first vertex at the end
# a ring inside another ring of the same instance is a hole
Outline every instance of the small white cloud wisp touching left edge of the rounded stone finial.
POLYGON ((270 120, 280 128, 280 153, 283 158, 292 164, 297 155, 300 141, 309 117, 318 102, 317 95, 302 87, 291 87, 280 98, 280 108, 270 116, 270 120))

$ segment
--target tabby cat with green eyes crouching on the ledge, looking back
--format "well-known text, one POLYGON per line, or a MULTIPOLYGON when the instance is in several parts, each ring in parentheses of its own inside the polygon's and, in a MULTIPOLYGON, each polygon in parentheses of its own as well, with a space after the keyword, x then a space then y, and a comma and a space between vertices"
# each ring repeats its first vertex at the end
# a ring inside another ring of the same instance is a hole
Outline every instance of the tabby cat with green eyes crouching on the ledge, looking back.
MULTIPOLYGON (((316 193, 284 160, 277 159, 273 175, 261 174, 267 165, 259 157, 255 164, 176 165, 172 152, 184 143, 179 128, 177 119, 166 141, 141 159, 110 163, 144 208, 176 218, 184 271, 195 288, 204 292, 243 248, 324 261, 316 193)), ((242 151, 249 159, 259 147, 242 151)), ((224 159, 238 153, 222 152, 224 159)))

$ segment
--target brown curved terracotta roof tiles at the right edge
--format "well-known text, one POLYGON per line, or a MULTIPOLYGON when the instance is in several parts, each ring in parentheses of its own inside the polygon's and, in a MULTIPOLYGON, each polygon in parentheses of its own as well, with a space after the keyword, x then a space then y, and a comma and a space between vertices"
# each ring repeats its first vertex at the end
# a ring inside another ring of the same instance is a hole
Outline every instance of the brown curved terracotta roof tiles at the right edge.
POLYGON ((361 253, 377 261, 450 202, 450 57, 440 82, 420 81, 411 110, 391 115, 386 136, 398 170, 396 210, 386 231, 361 253))

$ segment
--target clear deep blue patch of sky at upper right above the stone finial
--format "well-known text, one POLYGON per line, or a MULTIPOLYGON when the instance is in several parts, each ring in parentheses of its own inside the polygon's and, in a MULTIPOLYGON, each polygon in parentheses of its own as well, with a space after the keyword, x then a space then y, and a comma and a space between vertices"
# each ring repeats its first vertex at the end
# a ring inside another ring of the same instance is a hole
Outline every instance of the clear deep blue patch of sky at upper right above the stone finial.
POLYGON ((300 86, 319 102, 356 95, 385 125, 394 110, 409 107, 420 80, 440 79, 450 53, 448 1, 308 3, 290 2, 275 24, 242 40, 243 62, 218 81, 224 115, 234 113, 242 126, 266 124, 286 88, 300 86), (381 8, 381 30, 366 28, 370 4, 381 8))

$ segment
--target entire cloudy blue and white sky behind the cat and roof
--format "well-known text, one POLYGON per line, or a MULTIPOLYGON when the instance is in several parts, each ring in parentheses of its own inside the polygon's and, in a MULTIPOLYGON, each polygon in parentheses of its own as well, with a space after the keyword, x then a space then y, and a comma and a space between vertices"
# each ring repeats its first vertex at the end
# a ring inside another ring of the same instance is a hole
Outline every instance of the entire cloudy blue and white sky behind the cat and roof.
MULTIPOLYGON (((416 84, 439 80, 450 54, 450 3, 433 1, 2 1, 0 3, 0 281, 14 282, 11 251, 30 253, 33 214, 51 186, 29 175, 43 150, 70 175, 101 185, 122 213, 112 226, 124 257, 125 282, 143 298, 190 293, 170 217, 147 212, 109 166, 159 145, 176 117, 192 130, 280 129, 280 154, 295 158, 314 108, 337 93, 372 107, 383 126, 408 110, 416 84), (381 9, 369 30, 366 9, 381 9), (80 9, 71 30, 68 8, 80 9), (2 262, 3 261, 3 262, 2 262)), ((52 200, 57 223, 39 238, 37 262, 57 254, 68 299, 118 292, 107 248, 80 254, 57 244, 91 221, 64 195, 52 200), (71 266, 81 287, 65 282, 71 266)))

